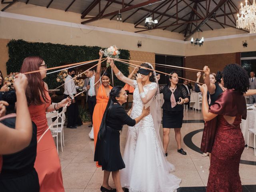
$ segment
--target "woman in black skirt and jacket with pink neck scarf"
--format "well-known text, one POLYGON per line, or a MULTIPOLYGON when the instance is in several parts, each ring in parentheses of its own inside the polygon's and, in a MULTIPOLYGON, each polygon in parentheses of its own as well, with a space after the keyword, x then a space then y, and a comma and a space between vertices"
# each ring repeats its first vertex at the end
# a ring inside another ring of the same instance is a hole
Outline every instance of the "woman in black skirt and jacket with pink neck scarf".
POLYGON ((167 156, 167 148, 170 140, 170 128, 174 128, 178 152, 182 155, 186 155, 187 153, 181 148, 180 128, 182 127, 183 120, 182 104, 189 102, 188 92, 184 87, 178 85, 179 79, 177 72, 171 72, 169 80, 169 85, 166 85, 162 90, 164 94, 164 104, 162 106, 164 152, 167 156))

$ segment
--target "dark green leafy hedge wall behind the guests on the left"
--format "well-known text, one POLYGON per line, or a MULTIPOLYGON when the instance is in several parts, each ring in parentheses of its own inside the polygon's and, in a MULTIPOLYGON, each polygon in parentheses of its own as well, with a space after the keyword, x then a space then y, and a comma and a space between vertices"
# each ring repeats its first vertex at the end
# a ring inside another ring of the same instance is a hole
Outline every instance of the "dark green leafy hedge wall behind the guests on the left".
MULTIPOLYGON (((40 56, 44 59, 48 68, 61 66, 65 64, 78 63, 98 59, 98 52, 104 49, 98 46, 73 46, 61 45, 52 43, 26 42, 24 40, 11 40, 8 44, 9 60, 6 63, 7 73, 19 72, 24 58, 28 56, 40 56)), ((120 49, 121 59, 130 59, 128 50, 120 49)), ((95 65, 97 62, 92 63, 95 65)), ((106 64, 106 61, 104 62, 106 64)), ((124 75, 129 74, 128 66, 115 62, 116 66, 124 75)), ((111 70, 108 69, 110 72, 111 70)), ((44 81, 48 84, 49 89, 54 89, 61 84, 56 81, 58 73, 49 74, 44 81)), ((124 86, 124 83, 119 81, 114 76, 114 85, 124 86)))

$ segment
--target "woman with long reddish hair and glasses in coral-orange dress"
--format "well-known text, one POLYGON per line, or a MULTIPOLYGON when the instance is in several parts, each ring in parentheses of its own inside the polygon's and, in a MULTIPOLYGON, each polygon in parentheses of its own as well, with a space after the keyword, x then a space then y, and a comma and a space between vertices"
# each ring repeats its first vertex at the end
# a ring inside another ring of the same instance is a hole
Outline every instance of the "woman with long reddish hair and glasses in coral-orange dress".
MULTIPOLYGON (((21 73, 44 70, 46 64, 38 56, 31 56, 24 59, 21 73)), ((31 120, 37 126, 37 140, 47 130, 46 112, 58 110, 67 103, 70 105, 71 100, 66 98, 58 104, 51 104, 51 98, 48 93, 48 86, 42 80, 46 77, 46 70, 26 74, 28 86, 26 97, 31 120)), ((60 159, 56 150, 54 140, 50 130, 42 137, 37 144, 37 155, 35 166, 38 173, 40 192, 64 192, 60 159)))

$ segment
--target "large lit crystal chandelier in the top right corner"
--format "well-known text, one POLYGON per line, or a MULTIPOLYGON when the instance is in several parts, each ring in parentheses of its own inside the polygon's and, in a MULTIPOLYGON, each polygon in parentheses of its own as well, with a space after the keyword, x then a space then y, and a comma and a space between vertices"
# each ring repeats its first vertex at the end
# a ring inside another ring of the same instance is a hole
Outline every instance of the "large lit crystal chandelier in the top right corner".
POLYGON ((256 33, 256 3, 253 0, 252 5, 247 4, 245 0, 245 6, 241 3, 240 14, 237 14, 238 20, 236 20, 236 28, 242 28, 250 30, 250 34, 256 33))

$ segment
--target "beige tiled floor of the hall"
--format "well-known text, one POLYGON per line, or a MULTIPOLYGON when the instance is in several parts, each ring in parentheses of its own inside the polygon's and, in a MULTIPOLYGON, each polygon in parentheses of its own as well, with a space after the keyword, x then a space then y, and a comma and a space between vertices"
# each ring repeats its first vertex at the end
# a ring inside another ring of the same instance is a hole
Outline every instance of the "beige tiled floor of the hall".
MULTIPOLYGON (((202 120, 202 114, 188 110, 184 112, 184 120, 202 120)), ((182 125, 182 137, 186 134, 204 127, 201 121, 185 121, 182 125)), ((90 132, 89 124, 77 129, 64 128, 65 146, 63 152, 59 151, 62 165, 62 175, 66 192, 99 192, 102 184, 103 172, 96 168, 94 158, 94 141, 88 136, 90 132)), ((161 131, 161 130, 160 130, 161 131)), ((121 151, 124 150, 126 141, 127 126, 120 136, 121 151)), ((200 146, 202 132, 198 132, 192 137, 192 142, 200 146)), ((202 154, 190 149, 183 142, 182 148, 187 155, 177 152, 174 130, 170 132, 170 144, 168 147, 168 161, 175 165, 174 174, 182 179, 178 192, 201 192, 205 191, 209 174, 209 158, 202 157, 202 154), (201 188, 200 188, 201 186, 201 188), (188 188, 195 187, 195 188, 188 188)), ((252 148, 245 148, 242 160, 256 162, 252 148)), ((240 177, 244 186, 244 191, 256 192, 256 165, 240 164, 240 177)), ((110 178, 110 186, 114 187, 114 182, 110 178)))

